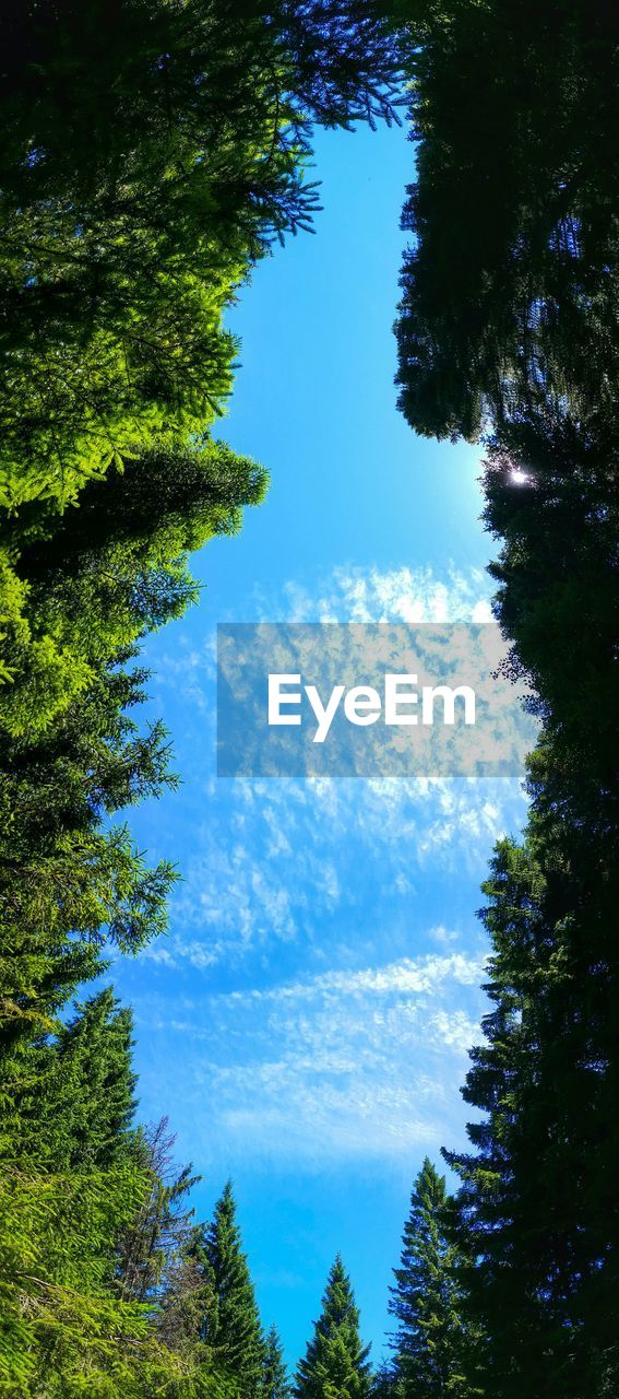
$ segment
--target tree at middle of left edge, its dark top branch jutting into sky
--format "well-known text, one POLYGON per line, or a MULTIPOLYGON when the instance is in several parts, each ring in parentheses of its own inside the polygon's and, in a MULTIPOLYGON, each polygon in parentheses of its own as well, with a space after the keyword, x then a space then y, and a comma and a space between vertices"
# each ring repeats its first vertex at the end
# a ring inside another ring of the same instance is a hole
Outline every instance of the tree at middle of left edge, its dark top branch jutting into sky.
POLYGON ((96 975, 96 943, 138 949, 165 923, 173 880, 148 870, 126 828, 102 820, 175 782, 161 725, 130 718, 145 673, 140 637, 179 616, 196 589, 187 548, 238 527, 264 473, 217 443, 144 455, 91 483, 80 511, 25 518, 18 561, 28 645, 14 652, 0 712, 0 961, 4 1034, 39 1032, 96 975), (41 652, 45 662, 39 663, 41 652), (70 683, 66 674, 70 674, 70 683))

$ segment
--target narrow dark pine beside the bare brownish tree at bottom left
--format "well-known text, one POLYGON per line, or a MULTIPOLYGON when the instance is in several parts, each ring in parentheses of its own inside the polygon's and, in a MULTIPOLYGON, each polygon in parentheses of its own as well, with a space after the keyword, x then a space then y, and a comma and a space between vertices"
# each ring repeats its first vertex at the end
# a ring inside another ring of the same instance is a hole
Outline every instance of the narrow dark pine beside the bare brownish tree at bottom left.
POLYGON ((205 1230, 204 1258, 212 1281, 212 1302, 204 1318, 205 1339, 218 1370, 239 1385, 243 1399, 260 1399, 264 1337, 231 1181, 205 1230))

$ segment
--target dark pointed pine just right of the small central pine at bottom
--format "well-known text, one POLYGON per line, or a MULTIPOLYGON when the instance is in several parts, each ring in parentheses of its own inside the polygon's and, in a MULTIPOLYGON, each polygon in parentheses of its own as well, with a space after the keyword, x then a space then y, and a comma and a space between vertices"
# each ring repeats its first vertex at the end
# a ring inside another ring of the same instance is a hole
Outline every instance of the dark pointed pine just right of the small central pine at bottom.
POLYGON ((395 1287, 390 1288, 388 1309, 398 1322, 393 1368, 404 1399, 465 1399, 474 1393, 465 1377, 472 1344, 463 1319, 463 1258, 450 1223, 444 1177, 426 1157, 411 1195, 395 1287))

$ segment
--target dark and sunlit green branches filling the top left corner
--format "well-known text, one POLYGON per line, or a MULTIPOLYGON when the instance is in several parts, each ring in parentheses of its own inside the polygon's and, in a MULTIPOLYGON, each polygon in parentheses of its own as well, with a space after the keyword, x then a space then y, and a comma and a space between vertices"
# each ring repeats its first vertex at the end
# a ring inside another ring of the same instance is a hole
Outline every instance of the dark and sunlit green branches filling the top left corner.
POLYGON ((222 410, 222 312, 316 207, 312 120, 390 118, 400 50, 374 6, 261 0, 29 0, 0 46, 0 490, 63 505, 222 410))

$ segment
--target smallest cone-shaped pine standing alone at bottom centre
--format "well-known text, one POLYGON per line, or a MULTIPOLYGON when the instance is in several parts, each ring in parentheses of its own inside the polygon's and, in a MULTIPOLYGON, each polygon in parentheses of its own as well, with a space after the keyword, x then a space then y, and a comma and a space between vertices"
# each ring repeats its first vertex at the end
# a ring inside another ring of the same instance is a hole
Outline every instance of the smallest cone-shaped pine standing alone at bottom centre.
POLYGON ((330 1270, 323 1311, 296 1371, 295 1399, 366 1399, 370 1347, 359 1337, 359 1311, 340 1255, 330 1270))

